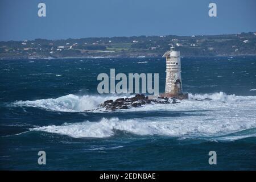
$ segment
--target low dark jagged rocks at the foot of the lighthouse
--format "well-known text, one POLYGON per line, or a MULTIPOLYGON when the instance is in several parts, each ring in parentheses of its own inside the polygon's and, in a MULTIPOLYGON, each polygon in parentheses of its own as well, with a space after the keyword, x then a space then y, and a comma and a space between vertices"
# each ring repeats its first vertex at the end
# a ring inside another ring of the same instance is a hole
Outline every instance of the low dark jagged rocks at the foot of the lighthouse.
POLYGON ((132 107, 141 107, 146 104, 176 104, 175 98, 158 97, 155 99, 149 99, 143 94, 137 94, 135 97, 118 98, 117 100, 105 101, 100 107, 104 107, 106 110, 117 109, 130 109, 132 107))

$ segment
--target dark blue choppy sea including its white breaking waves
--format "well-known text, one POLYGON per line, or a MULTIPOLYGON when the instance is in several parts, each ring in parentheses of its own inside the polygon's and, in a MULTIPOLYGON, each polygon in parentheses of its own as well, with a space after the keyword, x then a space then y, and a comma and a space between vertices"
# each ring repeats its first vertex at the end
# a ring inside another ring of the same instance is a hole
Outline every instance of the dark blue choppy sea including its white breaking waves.
POLYGON ((159 73, 163 92, 165 60, 1 60, 0 169, 255 170, 256 57, 181 62, 188 101, 85 112, 119 97, 97 93, 98 74, 110 68, 159 73))

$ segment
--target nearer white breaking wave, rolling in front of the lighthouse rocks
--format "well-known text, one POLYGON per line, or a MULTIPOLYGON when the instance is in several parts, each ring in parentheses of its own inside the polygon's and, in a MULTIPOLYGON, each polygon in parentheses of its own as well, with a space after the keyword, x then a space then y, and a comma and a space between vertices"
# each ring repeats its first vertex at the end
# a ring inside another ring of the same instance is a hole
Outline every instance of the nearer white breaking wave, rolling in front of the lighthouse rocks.
MULTIPOLYGON (((120 130, 135 135, 166 135, 170 137, 218 137, 256 127, 255 121, 203 121, 193 118, 158 119, 156 121, 143 121, 141 119, 102 118, 100 122, 64 123, 60 126, 43 126, 30 129, 31 131, 46 131, 68 135, 73 138, 106 138, 115 135, 120 130)), ((253 135, 234 135, 220 140, 234 140, 236 138, 255 137, 253 135)))

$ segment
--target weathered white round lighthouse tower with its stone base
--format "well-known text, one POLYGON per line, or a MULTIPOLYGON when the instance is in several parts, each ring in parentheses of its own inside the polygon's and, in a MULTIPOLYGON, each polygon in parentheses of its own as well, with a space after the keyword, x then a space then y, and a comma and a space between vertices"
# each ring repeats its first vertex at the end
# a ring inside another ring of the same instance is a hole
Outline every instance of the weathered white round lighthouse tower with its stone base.
POLYGON ((171 47, 163 57, 166 57, 166 89, 161 96, 188 99, 188 94, 182 90, 180 52, 171 47))

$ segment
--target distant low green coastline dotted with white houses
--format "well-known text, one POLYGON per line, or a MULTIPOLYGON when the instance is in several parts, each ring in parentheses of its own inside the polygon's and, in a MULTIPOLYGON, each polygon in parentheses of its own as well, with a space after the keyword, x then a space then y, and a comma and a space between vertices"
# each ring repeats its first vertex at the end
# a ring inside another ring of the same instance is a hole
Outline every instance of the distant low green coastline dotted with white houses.
POLYGON ((0 59, 161 57, 171 46, 182 56, 254 56, 256 33, 2 41, 0 59))

